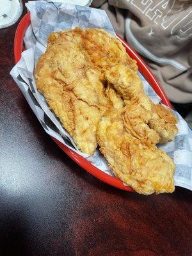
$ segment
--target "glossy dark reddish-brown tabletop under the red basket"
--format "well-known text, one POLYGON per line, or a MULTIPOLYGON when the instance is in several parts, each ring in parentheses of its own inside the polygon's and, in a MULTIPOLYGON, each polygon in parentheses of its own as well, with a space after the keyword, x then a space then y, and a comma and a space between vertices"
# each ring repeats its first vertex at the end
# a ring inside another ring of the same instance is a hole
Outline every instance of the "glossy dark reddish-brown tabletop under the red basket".
POLYGON ((113 188, 45 134, 9 74, 17 24, 0 30, 0 255, 192 255, 189 190, 113 188))

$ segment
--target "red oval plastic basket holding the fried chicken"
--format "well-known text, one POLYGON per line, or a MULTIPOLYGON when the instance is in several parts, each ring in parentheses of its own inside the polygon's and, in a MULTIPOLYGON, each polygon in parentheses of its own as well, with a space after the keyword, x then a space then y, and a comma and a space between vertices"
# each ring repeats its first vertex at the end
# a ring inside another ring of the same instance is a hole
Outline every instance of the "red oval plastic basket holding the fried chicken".
MULTIPOLYGON (((23 44, 23 37, 26 32, 26 29, 31 24, 30 20, 30 13, 27 13, 24 15, 22 20, 20 20, 19 25, 17 27, 17 30, 15 32, 15 40, 14 40, 14 57, 15 57, 15 63, 17 63, 20 60, 21 53, 24 51, 24 44, 23 44)), ((124 45, 127 53, 129 56, 137 61, 139 71, 141 74, 147 79, 148 83, 152 88, 154 88, 155 92, 161 97, 163 104, 166 106, 172 108, 172 105, 170 104, 170 101, 166 97, 166 94, 164 93, 163 88, 161 87, 161 84, 159 81, 157 81, 154 74, 151 72, 151 70, 148 68, 148 66, 145 64, 145 62, 140 58, 140 56, 132 49, 132 47, 127 44, 120 36, 118 36, 118 39, 122 42, 124 45)), ((70 150, 65 145, 63 145, 60 141, 56 140, 55 138, 52 138, 58 146, 72 159, 74 160, 79 166, 84 168, 87 172, 91 173, 93 176, 97 177, 98 179, 102 180, 103 182, 106 182, 110 184, 111 186, 114 186, 116 188, 124 189, 126 191, 134 191, 131 187, 125 186, 123 182, 116 177, 112 177, 108 175, 107 173, 102 172, 97 167, 93 166, 90 162, 88 162, 83 157, 79 156, 76 152, 73 150, 70 150)))

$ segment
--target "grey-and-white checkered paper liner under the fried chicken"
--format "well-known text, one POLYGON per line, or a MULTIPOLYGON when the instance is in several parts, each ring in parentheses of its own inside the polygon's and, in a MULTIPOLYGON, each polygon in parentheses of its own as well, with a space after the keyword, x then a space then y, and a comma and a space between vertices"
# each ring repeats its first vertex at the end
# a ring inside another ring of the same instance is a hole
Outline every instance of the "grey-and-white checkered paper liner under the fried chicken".
MULTIPOLYGON (((98 149, 95 150, 93 156, 88 156, 78 150, 73 139, 63 129, 60 120, 48 108, 44 96, 36 90, 34 78, 36 61, 45 52, 47 37, 53 31, 76 27, 104 28, 115 35, 106 12, 73 4, 47 3, 45 1, 30 1, 26 6, 31 12, 31 25, 24 36, 27 50, 22 52, 20 61, 10 72, 11 76, 47 134, 85 157, 103 172, 113 175, 106 159, 98 149)), ((143 81, 145 93, 155 104, 159 103, 161 101, 159 96, 145 78, 140 73, 138 74, 143 81)), ((158 147, 172 157, 175 163, 175 185, 192 190, 192 131, 179 113, 173 110, 172 112, 179 120, 177 125, 179 132, 175 136, 175 140, 164 145, 158 145, 158 147)))

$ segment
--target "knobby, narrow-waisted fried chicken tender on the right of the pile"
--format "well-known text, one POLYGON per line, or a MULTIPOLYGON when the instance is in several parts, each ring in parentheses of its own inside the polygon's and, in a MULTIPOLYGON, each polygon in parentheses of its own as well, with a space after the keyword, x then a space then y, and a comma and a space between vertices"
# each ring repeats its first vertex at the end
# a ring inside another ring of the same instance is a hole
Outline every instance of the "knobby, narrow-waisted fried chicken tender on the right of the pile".
POLYGON ((147 145, 173 140, 178 131, 177 118, 145 95, 140 77, 131 68, 115 65, 105 77, 125 101, 124 125, 133 136, 147 145))

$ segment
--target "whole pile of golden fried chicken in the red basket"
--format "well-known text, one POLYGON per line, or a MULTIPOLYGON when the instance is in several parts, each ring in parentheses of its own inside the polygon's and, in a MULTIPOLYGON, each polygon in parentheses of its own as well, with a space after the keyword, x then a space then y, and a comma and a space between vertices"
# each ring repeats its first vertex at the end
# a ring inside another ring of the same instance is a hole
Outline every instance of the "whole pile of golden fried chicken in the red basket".
POLYGON ((77 147, 97 143, 117 177, 138 193, 174 190, 172 159, 157 143, 173 140, 177 119, 143 92, 138 67, 104 29, 52 33, 35 79, 77 147))

